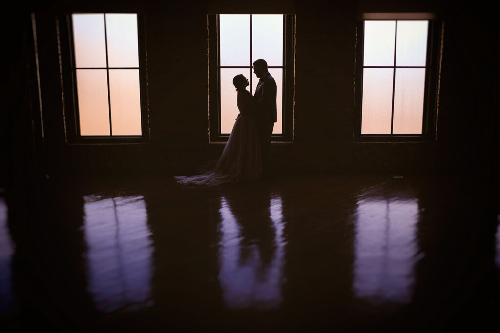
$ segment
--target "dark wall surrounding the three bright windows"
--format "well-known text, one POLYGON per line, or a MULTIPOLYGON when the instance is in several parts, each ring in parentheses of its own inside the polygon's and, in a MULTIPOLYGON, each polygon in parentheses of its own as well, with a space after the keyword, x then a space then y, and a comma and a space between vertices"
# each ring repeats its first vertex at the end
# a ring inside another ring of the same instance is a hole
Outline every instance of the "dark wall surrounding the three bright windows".
MULTIPOLYGON (((223 145, 208 142, 207 13, 214 7, 223 8, 224 1, 160 2, 54 2, 33 7, 50 175, 173 174, 220 154, 223 145), (55 16, 86 10, 145 14, 148 144, 65 143, 55 16)), ((230 3, 234 8, 234 1, 230 3)), ((487 8, 477 1, 310 0, 258 1, 252 10, 263 12, 266 3, 272 10, 282 7, 296 14, 294 140, 272 146, 276 168, 478 171, 490 175, 497 137, 498 29, 488 20, 487 8), (362 11, 442 14, 444 43, 435 142, 353 142, 356 17, 362 11)))

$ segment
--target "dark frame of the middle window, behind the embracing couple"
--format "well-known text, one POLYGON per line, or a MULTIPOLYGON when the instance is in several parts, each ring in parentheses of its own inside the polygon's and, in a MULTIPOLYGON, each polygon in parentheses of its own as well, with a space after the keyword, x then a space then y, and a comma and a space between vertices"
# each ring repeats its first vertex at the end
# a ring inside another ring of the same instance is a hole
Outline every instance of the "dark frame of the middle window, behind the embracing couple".
MULTIPOLYGON (((220 40, 219 15, 208 14, 208 137, 210 143, 226 142, 230 134, 220 133, 220 40)), ((254 14, 254 13, 247 13, 254 14)), ((256 14, 256 13, 255 13, 256 14)), ((258 13, 261 14, 261 13, 258 13)), ((282 90, 282 118, 281 134, 272 134, 271 141, 293 141, 293 94, 295 68, 295 15, 282 13, 283 19, 283 90, 282 90)), ((251 26, 250 26, 251 29, 251 26)), ((251 50, 250 50, 251 53, 251 50)), ((223 66, 231 67, 231 66, 223 66)), ((253 66, 233 66, 249 68, 253 76, 253 66)), ((281 66, 269 66, 269 68, 281 66)), ((252 77, 249 78, 251 80, 252 77)), ((235 106, 236 107, 236 106, 235 106)), ((279 111, 278 111, 279 112, 279 111)))

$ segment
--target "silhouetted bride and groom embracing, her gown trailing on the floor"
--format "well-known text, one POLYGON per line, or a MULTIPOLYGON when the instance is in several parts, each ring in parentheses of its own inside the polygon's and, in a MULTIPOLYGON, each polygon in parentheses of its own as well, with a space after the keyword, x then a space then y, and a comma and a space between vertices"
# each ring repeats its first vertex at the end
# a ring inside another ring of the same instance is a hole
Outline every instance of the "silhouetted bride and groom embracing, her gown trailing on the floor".
POLYGON ((276 122, 276 82, 263 59, 253 62, 259 78, 255 95, 246 90, 248 79, 234 76, 239 110, 231 134, 211 173, 174 176, 180 184, 216 186, 239 180, 256 180, 269 172, 271 134, 276 122))

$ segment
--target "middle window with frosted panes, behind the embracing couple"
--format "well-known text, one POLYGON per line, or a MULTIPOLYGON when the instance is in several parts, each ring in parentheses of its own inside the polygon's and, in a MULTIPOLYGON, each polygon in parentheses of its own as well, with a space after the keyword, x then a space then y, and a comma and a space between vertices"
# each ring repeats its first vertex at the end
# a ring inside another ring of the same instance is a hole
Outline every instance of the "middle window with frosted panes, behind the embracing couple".
POLYGON ((277 85, 274 141, 291 141, 293 126, 293 15, 209 15, 210 141, 226 141, 238 114, 232 78, 243 74, 252 94, 253 62, 264 59, 277 85))

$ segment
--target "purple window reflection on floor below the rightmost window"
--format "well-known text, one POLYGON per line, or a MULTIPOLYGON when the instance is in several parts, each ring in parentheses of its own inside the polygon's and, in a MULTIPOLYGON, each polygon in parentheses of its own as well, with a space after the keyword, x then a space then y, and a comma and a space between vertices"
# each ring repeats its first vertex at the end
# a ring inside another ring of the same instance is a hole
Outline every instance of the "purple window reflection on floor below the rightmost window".
POLYGON ((353 291, 374 303, 411 301, 417 200, 358 201, 353 291))

